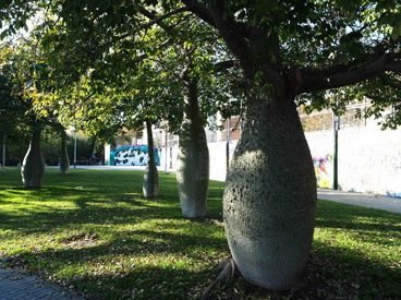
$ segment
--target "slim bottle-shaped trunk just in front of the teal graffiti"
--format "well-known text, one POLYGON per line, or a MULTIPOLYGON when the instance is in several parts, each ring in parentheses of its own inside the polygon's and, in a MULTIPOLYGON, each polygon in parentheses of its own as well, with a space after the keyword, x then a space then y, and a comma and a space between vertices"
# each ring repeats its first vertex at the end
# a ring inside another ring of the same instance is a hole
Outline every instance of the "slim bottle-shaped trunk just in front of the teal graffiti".
POLYGON ((151 123, 146 121, 147 145, 148 145, 148 161, 147 169, 144 175, 143 192, 144 197, 155 199, 159 191, 159 173, 156 167, 155 152, 154 152, 154 136, 151 132, 151 123))

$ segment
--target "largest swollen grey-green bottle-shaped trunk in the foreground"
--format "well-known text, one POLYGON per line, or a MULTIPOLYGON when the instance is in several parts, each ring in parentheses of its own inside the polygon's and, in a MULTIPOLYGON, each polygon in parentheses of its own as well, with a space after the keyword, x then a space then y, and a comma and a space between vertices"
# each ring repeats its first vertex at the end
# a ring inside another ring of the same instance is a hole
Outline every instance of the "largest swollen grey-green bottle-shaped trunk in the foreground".
POLYGON ((248 281, 274 290, 302 281, 314 231, 315 181, 292 97, 250 104, 223 199, 229 247, 248 281))

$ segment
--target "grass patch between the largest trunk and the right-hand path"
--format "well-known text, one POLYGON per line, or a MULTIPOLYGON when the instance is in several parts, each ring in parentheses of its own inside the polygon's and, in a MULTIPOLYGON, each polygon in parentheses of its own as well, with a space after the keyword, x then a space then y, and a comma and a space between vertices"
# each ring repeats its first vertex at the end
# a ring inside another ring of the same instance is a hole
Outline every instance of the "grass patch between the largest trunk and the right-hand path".
POLYGON ((399 214, 320 201, 314 251, 339 289, 348 286, 364 299, 401 298, 399 214))

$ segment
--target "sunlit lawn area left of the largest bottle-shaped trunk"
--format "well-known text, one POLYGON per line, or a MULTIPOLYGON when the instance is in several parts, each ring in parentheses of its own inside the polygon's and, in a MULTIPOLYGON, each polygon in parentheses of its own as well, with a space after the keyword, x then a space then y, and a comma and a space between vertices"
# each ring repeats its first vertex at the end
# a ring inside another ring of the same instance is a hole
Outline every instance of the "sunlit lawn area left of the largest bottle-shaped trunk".
MULTIPOLYGON (((27 191, 8 170, 0 178, 1 256, 95 298, 199 293, 229 255, 223 228, 181 217, 173 175, 160 173, 156 201, 143 199, 142 177, 47 169, 45 187, 27 191)), ((223 184, 212 184, 218 215, 223 184)))

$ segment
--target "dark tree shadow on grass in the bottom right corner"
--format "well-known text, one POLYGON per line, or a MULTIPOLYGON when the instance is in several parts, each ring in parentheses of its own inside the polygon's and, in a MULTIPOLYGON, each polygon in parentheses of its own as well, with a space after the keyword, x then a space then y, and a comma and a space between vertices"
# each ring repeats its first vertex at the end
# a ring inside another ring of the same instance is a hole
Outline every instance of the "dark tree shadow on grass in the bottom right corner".
POLYGON ((315 283, 324 279, 325 286, 342 298, 401 298, 399 262, 379 260, 361 250, 315 241, 309 276, 315 283))

